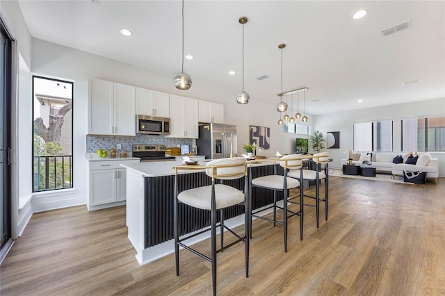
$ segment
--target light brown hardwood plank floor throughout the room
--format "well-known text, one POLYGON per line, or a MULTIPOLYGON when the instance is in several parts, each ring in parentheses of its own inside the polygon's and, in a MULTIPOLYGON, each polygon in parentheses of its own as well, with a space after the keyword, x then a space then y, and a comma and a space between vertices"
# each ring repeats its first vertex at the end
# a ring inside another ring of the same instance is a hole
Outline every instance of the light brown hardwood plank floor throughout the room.
MULTIPOLYGON (((243 244, 218 254, 218 295, 445 295, 444 192, 444 178, 332 176, 329 220, 322 204, 316 229, 306 207, 303 240, 291 219, 287 253, 282 227, 254 220, 248 279, 243 244)), ((0 295, 211 295, 210 264, 191 252, 179 277, 173 254, 143 266, 135 254, 124 206, 35 213, 0 266, 0 295)))

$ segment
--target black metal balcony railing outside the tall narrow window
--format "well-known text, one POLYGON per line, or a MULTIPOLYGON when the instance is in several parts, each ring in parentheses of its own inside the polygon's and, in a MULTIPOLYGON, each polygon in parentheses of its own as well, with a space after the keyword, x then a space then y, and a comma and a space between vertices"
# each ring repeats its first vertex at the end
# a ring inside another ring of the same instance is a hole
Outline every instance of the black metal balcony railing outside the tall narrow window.
POLYGON ((34 156, 33 192, 72 188, 72 156, 34 156))

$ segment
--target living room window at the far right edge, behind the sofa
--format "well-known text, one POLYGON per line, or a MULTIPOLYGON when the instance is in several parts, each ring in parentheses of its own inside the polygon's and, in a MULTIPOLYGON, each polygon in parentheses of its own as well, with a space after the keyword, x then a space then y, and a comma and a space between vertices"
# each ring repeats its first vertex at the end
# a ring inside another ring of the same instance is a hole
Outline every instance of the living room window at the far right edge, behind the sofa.
POLYGON ((403 151, 445 151, 445 116, 402 120, 403 151))

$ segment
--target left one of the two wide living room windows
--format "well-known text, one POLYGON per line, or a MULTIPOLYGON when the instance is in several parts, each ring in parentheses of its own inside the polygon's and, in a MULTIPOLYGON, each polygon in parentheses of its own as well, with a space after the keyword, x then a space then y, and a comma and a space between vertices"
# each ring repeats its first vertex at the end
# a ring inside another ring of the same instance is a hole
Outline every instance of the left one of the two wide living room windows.
POLYGON ((392 151, 392 120, 354 124, 354 150, 392 151))

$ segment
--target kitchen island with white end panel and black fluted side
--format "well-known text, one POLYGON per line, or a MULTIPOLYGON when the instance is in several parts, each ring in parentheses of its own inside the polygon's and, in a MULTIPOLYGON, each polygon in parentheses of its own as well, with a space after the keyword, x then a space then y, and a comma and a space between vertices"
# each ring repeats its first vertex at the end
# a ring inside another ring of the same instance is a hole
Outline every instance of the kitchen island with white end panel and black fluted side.
MULTIPOLYGON (((206 165, 208 161, 200 161, 206 165)), ((127 169, 127 227, 128 238, 136 249, 139 264, 149 263, 174 252, 173 243, 173 199, 175 186, 175 165, 181 161, 121 164, 127 169)), ((273 174, 274 163, 252 164, 252 177, 273 174)), ((181 171, 179 190, 210 185, 211 180, 203 170, 181 171)), ((240 190, 243 181, 235 180, 240 190)), ((261 208, 273 202, 272 190, 254 188, 252 208, 261 208)), ((282 195, 278 197, 282 199, 282 195)), ((179 204, 181 233, 192 233, 210 224, 210 213, 185 204, 179 204)), ((225 223, 234 227, 244 222, 242 206, 225 210, 225 223)), ((204 240, 207 233, 195 236, 195 242, 204 240)))

